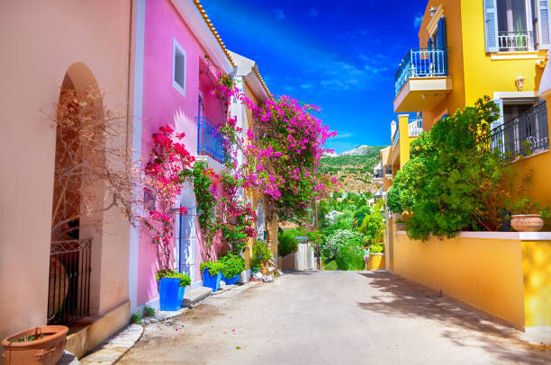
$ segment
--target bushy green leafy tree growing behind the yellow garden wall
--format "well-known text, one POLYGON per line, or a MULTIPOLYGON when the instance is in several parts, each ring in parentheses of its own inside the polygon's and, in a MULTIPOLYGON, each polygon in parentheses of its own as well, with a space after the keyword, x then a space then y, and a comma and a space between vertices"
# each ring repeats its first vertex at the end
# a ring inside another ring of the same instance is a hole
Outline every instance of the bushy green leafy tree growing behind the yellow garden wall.
POLYGON ((406 222, 412 238, 500 227, 513 176, 499 151, 486 143, 498 114, 497 105, 485 96, 438 120, 411 143, 411 160, 396 175, 388 206, 412 213, 406 222))

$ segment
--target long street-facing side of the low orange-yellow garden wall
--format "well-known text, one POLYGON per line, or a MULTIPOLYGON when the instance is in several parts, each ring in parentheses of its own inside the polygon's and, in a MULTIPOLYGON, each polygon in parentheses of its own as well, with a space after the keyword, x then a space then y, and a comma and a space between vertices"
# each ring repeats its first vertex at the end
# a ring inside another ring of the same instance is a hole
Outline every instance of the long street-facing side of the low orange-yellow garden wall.
POLYGON ((431 237, 420 242, 399 234, 393 246, 396 274, 524 327, 519 240, 431 237))

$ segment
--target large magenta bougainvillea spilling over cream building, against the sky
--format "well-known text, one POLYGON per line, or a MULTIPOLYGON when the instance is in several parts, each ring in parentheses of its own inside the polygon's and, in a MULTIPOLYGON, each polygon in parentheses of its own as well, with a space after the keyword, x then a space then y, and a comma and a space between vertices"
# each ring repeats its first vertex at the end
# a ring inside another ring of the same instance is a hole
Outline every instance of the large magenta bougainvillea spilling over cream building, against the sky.
MULTIPOLYGON (((284 95, 258 107, 239 93, 230 76, 219 71, 218 78, 212 94, 226 107, 232 99, 243 102, 257 120, 253 129, 247 130, 246 141, 239 138, 242 130, 236 127, 235 118, 228 117, 219 129, 231 146, 243 150, 244 163, 239 171, 243 186, 259 188, 279 218, 302 218, 312 200, 324 198, 337 184, 334 178, 318 172, 321 156, 327 151, 323 144, 337 132, 331 132, 312 114, 319 111, 314 105, 284 95)), ((236 156, 237 151, 233 154, 236 156)), ((236 166, 234 161, 231 167, 236 166)))

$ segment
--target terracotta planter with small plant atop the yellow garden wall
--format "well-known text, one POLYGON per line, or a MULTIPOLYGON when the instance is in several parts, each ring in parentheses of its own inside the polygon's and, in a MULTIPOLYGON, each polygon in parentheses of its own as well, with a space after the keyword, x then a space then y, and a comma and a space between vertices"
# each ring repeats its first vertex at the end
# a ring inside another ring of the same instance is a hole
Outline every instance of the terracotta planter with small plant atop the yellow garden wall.
POLYGON ((510 206, 513 212, 510 225, 519 232, 537 232, 549 218, 549 208, 541 209, 540 205, 527 197, 521 196, 510 206))

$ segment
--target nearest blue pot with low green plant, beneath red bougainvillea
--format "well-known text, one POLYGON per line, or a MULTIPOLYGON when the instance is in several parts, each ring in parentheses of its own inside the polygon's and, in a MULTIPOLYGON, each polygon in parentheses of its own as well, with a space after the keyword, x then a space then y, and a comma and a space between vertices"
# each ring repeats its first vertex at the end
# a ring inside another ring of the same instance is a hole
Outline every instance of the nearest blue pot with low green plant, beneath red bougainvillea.
POLYGON ((155 279, 158 280, 160 310, 180 309, 184 300, 185 287, 191 284, 189 276, 169 269, 161 269, 157 272, 155 279))

